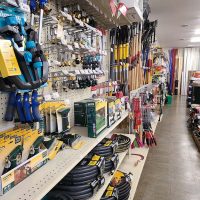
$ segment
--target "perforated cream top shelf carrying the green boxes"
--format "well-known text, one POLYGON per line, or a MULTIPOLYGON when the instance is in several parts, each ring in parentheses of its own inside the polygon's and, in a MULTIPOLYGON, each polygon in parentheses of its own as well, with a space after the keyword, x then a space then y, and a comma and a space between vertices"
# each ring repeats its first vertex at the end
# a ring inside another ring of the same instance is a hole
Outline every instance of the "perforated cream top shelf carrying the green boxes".
POLYGON ((83 135, 85 142, 80 150, 66 149, 58 153, 55 159, 38 169, 24 181, 11 189, 0 200, 41 200, 67 173, 69 173, 103 138, 114 130, 126 117, 124 113, 110 128, 105 129, 98 138, 88 138, 81 128, 72 132, 83 135))

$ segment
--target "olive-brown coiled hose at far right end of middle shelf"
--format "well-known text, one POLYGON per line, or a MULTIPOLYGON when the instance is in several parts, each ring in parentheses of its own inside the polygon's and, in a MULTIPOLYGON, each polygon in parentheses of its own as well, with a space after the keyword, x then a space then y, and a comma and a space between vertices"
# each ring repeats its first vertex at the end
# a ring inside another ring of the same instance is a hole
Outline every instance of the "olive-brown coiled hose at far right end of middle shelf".
POLYGON ((118 147, 116 149, 116 153, 122 153, 125 152, 130 148, 131 145, 131 139, 125 135, 116 135, 114 134, 112 136, 113 139, 115 139, 118 142, 118 147))

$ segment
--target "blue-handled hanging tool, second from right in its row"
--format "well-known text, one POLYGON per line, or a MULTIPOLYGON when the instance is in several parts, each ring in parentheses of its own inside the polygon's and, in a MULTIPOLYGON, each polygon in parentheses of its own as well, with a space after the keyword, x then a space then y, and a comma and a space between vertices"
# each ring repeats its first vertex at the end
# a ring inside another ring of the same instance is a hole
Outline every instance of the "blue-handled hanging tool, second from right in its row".
POLYGON ((23 96, 23 109, 25 114, 25 119, 27 123, 33 122, 33 117, 31 113, 31 104, 29 101, 29 93, 25 92, 23 96))

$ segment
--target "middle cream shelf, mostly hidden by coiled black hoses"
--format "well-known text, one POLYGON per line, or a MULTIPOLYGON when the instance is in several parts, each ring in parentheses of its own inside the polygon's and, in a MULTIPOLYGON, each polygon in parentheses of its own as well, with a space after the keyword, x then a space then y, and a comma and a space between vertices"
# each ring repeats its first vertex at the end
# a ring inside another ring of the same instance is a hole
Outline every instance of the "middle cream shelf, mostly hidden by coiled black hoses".
MULTIPOLYGON (((126 134, 126 136, 130 137, 131 143, 135 140, 135 135, 126 134)), ((123 152, 123 153, 119 153, 119 163, 118 163, 118 167, 117 167, 117 169, 115 171, 118 170, 118 168, 122 164, 124 158, 126 157, 127 153, 128 153, 128 150, 123 152)), ((106 191, 106 188, 108 187, 108 185, 109 185, 110 181, 112 180, 113 176, 114 176, 114 173, 112 175, 109 174, 109 173, 104 175, 105 183, 104 183, 103 187, 92 198, 90 198, 90 200, 99 200, 99 199, 101 199, 103 193, 106 191)))

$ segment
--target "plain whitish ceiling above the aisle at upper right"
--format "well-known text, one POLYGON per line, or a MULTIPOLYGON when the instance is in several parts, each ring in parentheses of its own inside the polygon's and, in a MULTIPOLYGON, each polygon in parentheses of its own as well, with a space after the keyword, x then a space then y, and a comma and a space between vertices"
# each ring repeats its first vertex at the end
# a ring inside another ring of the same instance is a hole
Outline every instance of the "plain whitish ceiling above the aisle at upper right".
POLYGON ((158 19, 157 39, 165 48, 200 46, 191 37, 200 37, 200 0, 149 0, 150 19, 158 19), (183 25, 188 25, 184 26, 183 25))

